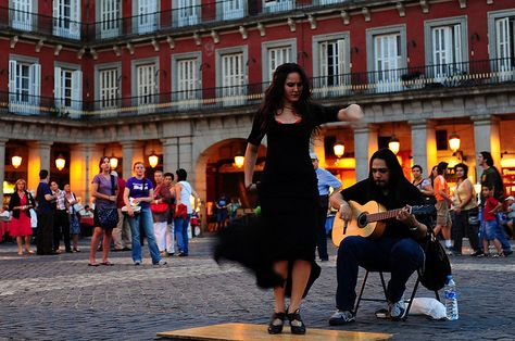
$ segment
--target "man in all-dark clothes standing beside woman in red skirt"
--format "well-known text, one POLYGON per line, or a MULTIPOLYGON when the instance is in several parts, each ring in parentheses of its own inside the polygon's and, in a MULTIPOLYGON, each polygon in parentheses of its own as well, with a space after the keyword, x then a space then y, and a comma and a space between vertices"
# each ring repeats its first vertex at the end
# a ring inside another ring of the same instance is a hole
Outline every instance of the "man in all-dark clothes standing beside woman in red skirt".
POLYGON ((52 193, 47 169, 39 171, 39 185, 36 191, 38 232, 37 232, 37 254, 54 254, 53 252, 53 209, 52 201, 55 195, 52 193))

